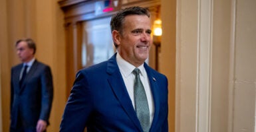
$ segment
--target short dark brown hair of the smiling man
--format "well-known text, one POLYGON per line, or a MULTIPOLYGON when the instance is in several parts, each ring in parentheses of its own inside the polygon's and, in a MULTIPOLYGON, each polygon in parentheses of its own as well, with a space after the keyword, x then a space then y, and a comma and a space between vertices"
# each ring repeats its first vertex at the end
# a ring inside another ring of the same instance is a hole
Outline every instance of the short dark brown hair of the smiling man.
MULTIPOLYGON (((124 18, 128 15, 146 15, 148 16, 148 18, 150 18, 150 11, 143 7, 127 7, 125 9, 121 9, 120 11, 118 11, 118 13, 113 15, 110 20, 111 32, 113 32, 113 30, 117 30, 122 34, 124 18)), ((116 46, 115 43, 114 46, 116 46)))

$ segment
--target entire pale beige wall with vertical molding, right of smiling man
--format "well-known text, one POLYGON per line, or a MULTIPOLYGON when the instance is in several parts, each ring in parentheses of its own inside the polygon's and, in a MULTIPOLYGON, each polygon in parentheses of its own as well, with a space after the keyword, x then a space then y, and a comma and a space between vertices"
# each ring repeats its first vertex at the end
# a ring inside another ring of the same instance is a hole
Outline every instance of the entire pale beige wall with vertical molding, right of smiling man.
POLYGON ((177 132, 255 131, 255 7, 177 1, 177 132))

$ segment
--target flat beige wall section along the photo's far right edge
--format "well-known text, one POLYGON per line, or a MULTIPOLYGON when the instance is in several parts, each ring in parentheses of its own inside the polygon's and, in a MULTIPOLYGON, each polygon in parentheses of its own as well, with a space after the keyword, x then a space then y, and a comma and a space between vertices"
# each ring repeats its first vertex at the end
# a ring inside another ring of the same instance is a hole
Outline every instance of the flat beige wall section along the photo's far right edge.
POLYGON ((256 131, 256 1, 233 1, 231 131, 256 131))

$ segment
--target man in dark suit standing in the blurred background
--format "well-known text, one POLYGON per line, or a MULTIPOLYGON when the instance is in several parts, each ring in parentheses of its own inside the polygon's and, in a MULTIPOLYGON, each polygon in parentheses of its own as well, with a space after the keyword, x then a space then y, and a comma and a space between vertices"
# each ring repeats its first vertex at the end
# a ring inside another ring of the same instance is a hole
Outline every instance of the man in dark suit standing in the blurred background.
POLYGON ((30 38, 16 42, 22 63, 11 69, 11 132, 41 132, 49 125, 53 102, 51 69, 35 59, 30 38))

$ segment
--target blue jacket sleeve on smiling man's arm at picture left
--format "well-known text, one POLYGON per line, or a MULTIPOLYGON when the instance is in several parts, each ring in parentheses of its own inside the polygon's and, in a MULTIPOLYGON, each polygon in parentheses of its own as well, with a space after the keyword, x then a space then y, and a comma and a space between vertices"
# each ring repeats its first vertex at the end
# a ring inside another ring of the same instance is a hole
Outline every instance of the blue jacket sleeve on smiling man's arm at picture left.
POLYGON ((66 108, 64 109, 60 131, 84 131, 92 113, 93 99, 85 73, 77 73, 66 108))

